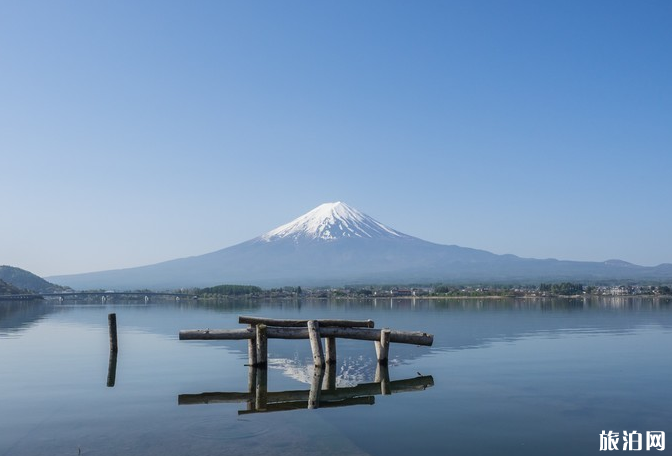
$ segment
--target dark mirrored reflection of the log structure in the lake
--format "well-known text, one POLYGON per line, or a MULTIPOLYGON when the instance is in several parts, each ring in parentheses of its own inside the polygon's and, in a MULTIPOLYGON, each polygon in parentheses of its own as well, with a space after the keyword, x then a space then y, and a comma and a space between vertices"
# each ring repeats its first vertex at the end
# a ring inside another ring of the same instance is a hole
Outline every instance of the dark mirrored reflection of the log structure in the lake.
POLYGON ((376 395, 424 391, 430 386, 434 386, 434 379, 431 375, 391 382, 388 367, 379 364, 376 369, 375 382, 336 388, 335 366, 327 364, 325 368, 314 369, 309 390, 269 392, 268 370, 250 366, 247 392, 180 394, 177 402, 179 405, 245 402, 247 403, 246 410, 238 411, 239 415, 244 415, 297 409, 373 405, 376 395))

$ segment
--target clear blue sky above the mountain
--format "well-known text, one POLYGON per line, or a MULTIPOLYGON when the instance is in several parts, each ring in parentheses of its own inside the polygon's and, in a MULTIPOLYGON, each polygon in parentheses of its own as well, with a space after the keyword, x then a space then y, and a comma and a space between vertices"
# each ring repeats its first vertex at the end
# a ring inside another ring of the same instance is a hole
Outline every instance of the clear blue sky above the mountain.
POLYGON ((672 262, 672 2, 0 2, 0 264, 153 264, 344 201, 672 262))

